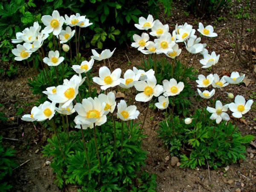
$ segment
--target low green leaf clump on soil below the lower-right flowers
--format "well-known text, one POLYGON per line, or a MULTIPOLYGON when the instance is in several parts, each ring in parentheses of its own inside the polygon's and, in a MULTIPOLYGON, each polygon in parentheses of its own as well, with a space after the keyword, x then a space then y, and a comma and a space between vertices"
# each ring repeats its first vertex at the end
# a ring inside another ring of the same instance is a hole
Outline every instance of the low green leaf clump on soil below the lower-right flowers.
POLYGON ((169 119, 160 122, 159 137, 171 154, 180 155, 181 166, 195 169, 209 163, 209 167, 216 169, 245 159, 244 144, 253 140, 253 136, 243 137, 231 122, 216 124, 209 116, 206 110, 197 110, 189 125, 178 116, 173 123, 169 119))

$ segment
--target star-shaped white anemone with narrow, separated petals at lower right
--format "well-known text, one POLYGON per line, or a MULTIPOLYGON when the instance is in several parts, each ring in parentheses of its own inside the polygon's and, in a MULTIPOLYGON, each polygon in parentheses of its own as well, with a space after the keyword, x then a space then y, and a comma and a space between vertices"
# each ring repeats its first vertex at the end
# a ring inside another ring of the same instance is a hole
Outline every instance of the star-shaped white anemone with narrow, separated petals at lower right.
POLYGON ((209 113, 212 113, 212 115, 210 116, 210 119, 214 120, 216 119, 216 123, 220 123, 221 120, 225 120, 225 121, 229 121, 230 117, 228 116, 227 112, 228 110, 228 104, 222 106, 222 103, 220 101, 216 101, 215 103, 215 108, 211 108, 207 106, 207 111, 209 111, 209 113))

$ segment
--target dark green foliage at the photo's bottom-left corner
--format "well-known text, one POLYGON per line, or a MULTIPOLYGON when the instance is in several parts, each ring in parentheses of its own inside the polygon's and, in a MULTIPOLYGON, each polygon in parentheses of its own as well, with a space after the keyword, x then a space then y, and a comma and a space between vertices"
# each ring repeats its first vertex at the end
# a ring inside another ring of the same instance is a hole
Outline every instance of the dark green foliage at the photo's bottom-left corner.
POLYGON ((0 136, 0 191, 6 192, 12 188, 6 182, 6 177, 12 176, 12 169, 17 167, 17 163, 12 159, 16 151, 12 148, 4 148, 2 139, 3 137, 0 136))

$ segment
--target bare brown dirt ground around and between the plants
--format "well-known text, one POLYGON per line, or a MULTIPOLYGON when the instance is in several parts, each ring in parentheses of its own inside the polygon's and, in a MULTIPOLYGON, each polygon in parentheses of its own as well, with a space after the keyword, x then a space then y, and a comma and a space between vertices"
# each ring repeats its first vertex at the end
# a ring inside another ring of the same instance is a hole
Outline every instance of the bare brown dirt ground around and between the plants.
MULTIPOLYGON (((173 15, 161 21, 169 23, 170 31, 175 29, 175 24, 183 24, 188 22, 192 24, 195 29, 195 17, 192 15, 186 16, 184 8, 175 6, 177 9, 173 10, 173 15)), ((189 66, 193 66, 199 70, 200 74, 207 75, 209 73, 218 73, 223 76, 232 71, 239 71, 239 73, 246 74, 248 84, 229 85, 224 91, 215 93, 225 102, 227 94, 231 92, 234 95, 241 94, 246 99, 253 96, 256 100, 256 76, 253 73, 253 68, 243 65, 235 56, 235 48, 232 46, 235 39, 234 35, 230 35, 229 31, 239 29, 240 23, 233 22, 228 13, 221 13, 225 20, 215 22, 217 17, 212 17, 211 20, 200 20, 202 23, 211 24, 215 26, 215 31, 218 33, 218 38, 202 38, 203 43, 207 43, 209 52, 215 51, 220 54, 218 64, 212 68, 212 71, 201 69, 199 60, 200 55, 188 57, 185 54, 180 55, 180 60, 189 66), (190 59, 188 59, 190 58, 190 59)), ((255 27, 255 26, 254 26, 255 27)), ((183 47, 183 53, 186 52, 183 47)), ((89 56, 89 55, 88 55, 89 56)), ((163 55, 162 55, 163 56, 163 55)), ((145 56, 144 56, 145 57, 145 56)), ((139 66, 143 55, 137 50, 129 47, 128 49, 117 48, 115 54, 111 58, 111 66, 113 68, 120 67, 125 71, 132 66, 139 66), (131 65, 127 65, 130 61, 131 65)), ((98 71, 102 63, 96 62, 94 71, 98 71)), ((20 115, 17 115, 18 108, 23 108, 23 113, 29 113, 32 108, 36 96, 33 96, 29 90, 27 79, 34 78, 35 75, 32 70, 27 67, 19 65, 20 73, 13 78, 1 78, 0 84, 0 103, 4 105, 3 111, 9 118, 5 125, 1 125, 0 134, 4 139, 4 145, 12 146, 17 150, 17 161, 19 164, 26 162, 14 170, 10 183, 13 185, 12 191, 16 192, 58 192, 58 191, 76 191, 76 186, 67 186, 60 190, 54 185, 54 175, 50 166, 46 165, 47 157, 41 153, 42 147, 47 144, 47 138, 51 133, 40 127, 34 128, 30 123, 22 122, 20 115), (16 139, 9 140, 8 138, 16 139)), ((193 83, 196 90, 196 84, 193 83)), ((130 96, 130 95, 128 95, 130 96)), ((135 95, 134 95, 135 96, 135 95)), ((204 106, 209 102, 205 101, 204 106)), ((145 115, 145 105, 136 102, 142 120, 145 115)), ((198 108, 196 104, 193 111, 198 108)), ((245 115, 244 121, 231 119, 233 123, 239 126, 242 134, 253 134, 256 136, 256 105, 250 112, 245 115)), ((144 134, 148 135, 143 141, 143 148, 148 151, 148 159, 144 170, 157 175, 157 191, 158 192, 235 192, 241 189, 242 192, 256 191, 256 154, 253 145, 247 147, 247 157, 244 161, 239 161, 236 164, 230 164, 227 173, 224 175, 224 168, 217 170, 210 170, 198 168, 181 169, 180 167, 172 167, 170 164, 171 156, 169 151, 164 147, 163 143, 157 136, 158 123, 163 119, 161 112, 149 109, 148 118, 145 122, 144 134), (149 118, 151 117, 151 118, 149 118), (254 153, 253 153, 254 152, 254 153), (252 155, 253 154, 253 155, 252 155), (166 158, 169 156, 169 160, 166 158), (209 179, 210 177, 210 179, 209 179)), ((254 140, 255 142, 255 140, 254 140)))

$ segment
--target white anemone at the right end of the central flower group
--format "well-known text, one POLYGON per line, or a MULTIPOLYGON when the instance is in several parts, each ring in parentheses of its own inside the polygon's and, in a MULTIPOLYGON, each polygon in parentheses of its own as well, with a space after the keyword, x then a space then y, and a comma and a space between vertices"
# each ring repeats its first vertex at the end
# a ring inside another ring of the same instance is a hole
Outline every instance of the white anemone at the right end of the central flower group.
POLYGON ((184 89, 184 83, 183 82, 179 82, 177 83, 177 81, 175 79, 170 79, 170 81, 168 80, 163 80, 163 95, 164 96, 175 96, 180 94, 180 92, 184 89))

